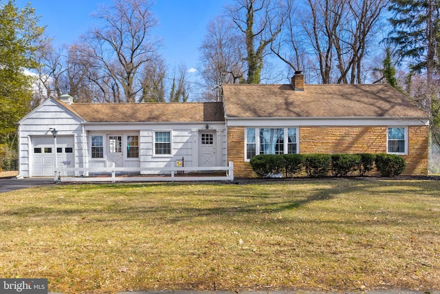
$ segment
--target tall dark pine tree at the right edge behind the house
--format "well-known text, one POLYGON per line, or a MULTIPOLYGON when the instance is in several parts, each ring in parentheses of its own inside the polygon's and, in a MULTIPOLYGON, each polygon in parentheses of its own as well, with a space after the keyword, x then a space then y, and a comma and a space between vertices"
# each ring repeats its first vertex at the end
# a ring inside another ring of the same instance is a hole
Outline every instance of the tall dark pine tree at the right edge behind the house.
POLYGON ((390 22, 393 33, 389 38, 397 45, 397 54, 408 61, 412 72, 425 77, 422 90, 412 93, 430 118, 432 138, 440 145, 439 0, 391 0, 390 22))

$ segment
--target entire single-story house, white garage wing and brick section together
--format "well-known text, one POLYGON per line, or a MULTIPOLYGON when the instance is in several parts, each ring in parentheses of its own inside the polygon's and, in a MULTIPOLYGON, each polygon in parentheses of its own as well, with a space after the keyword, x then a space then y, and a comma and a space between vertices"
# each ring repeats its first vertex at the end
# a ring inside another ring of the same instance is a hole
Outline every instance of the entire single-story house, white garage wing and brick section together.
POLYGON ((235 176, 249 177, 256 154, 361 152, 399 154, 404 174, 428 173, 428 118, 412 101, 386 84, 305 85, 298 72, 289 85, 223 85, 215 103, 50 98, 18 125, 22 177, 113 163, 173 167, 181 158, 190 167, 232 161, 235 176))

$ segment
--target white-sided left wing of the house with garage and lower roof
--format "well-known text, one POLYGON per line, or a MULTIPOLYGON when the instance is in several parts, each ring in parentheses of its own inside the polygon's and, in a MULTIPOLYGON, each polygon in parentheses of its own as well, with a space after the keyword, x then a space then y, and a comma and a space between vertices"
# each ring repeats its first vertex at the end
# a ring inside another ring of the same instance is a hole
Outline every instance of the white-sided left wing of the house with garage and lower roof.
POLYGON ((63 96, 47 99, 18 124, 21 177, 112 163, 173 167, 181 158, 186 166, 227 164, 222 103, 94 104, 63 96))

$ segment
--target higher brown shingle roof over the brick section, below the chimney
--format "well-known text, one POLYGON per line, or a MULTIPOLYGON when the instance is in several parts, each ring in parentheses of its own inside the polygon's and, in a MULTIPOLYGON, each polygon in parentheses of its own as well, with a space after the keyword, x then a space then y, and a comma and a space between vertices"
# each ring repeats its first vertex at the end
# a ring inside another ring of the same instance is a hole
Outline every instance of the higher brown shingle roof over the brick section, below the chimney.
POLYGON ((226 118, 426 118, 388 84, 223 85, 226 118))

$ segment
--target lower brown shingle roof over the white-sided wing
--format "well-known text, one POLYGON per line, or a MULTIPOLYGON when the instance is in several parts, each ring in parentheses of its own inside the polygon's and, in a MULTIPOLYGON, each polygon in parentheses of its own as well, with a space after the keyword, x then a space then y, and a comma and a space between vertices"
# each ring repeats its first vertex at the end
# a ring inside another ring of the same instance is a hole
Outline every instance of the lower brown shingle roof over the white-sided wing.
MULTIPOLYGON (((63 103, 58 101, 59 103, 63 103)), ((223 104, 73 103, 63 105, 89 123, 224 121, 223 104)))

